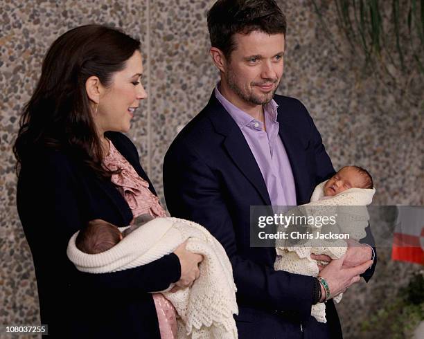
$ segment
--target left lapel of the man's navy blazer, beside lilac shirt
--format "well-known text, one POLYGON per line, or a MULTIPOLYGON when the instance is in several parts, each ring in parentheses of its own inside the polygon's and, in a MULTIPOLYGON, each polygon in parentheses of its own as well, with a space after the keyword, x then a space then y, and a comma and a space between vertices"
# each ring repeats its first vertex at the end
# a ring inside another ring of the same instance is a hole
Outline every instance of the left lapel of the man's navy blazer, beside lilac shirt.
POLYGON ((223 146, 227 150, 229 157, 250 181, 251 185, 256 188, 265 205, 271 205, 270 195, 268 194, 262 173, 242 131, 240 131, 233 118, 231 118, 229 113, 215 98, 214 93, 212 93, 208 106, 210 113, 209 119, 215 130, 224 136, 223 146))

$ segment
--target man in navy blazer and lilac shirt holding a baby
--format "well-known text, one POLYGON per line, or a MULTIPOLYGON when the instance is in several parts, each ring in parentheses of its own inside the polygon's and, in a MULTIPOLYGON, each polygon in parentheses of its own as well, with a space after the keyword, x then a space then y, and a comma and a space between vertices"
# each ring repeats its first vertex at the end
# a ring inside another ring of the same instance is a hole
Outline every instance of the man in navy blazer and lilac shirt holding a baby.
MULTIPOLYGON (((310 316, 312 304, 326 299, 317 278, 274 271, 275 248, 249 245, 251 205, 307 203, 315 185, 335 173, 303 104, 274 95, 283 75, 285 17, 272 0, 219 0, 208 27, 221 81, 166 154, 168 210, 205 226, 227 251, 240 338, 340 338, 332 300, 326 324, 310 316)), ((360 280, 372 252, 351 246, 344 261, 321 269, 331 296, 360 280)))

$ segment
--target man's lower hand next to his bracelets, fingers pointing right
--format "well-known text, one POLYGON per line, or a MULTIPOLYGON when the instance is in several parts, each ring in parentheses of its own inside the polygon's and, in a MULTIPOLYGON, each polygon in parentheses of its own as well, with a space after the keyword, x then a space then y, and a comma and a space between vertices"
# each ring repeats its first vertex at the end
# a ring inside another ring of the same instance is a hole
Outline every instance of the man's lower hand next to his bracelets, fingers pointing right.
MULTIPOLYGON (((369 266, 373 264, 372 260, 368 260, 359 266, 346 268, 343 266, 345 257, 346 255, 344 255, 341 259, 332 260, 330 264, 325 266, 319 273, 319 275, 326 280, 328 287, 330 288, 330 297, 335 297, 340 293, 344 293, 349 286, 355 284, 355 282, 359 282, 360 274, 364 273, 369 266)), ((326 294, 322 286, 321 292, 323 297, 320 301, 323 301, 326 294)))

